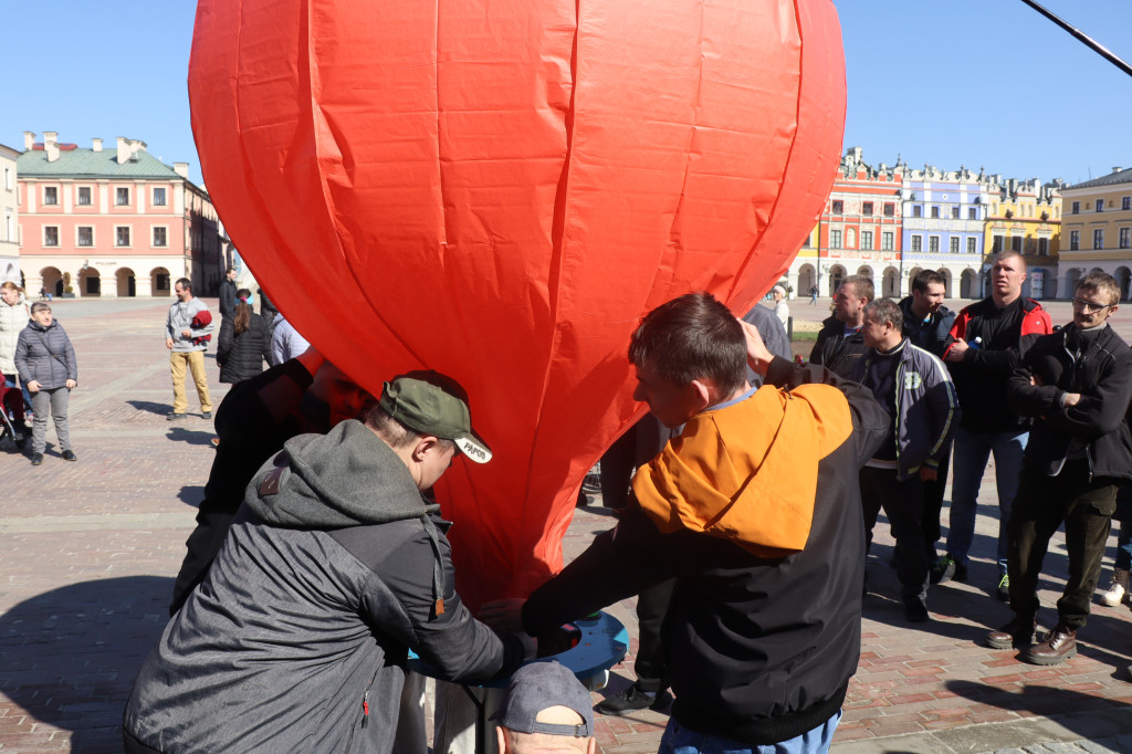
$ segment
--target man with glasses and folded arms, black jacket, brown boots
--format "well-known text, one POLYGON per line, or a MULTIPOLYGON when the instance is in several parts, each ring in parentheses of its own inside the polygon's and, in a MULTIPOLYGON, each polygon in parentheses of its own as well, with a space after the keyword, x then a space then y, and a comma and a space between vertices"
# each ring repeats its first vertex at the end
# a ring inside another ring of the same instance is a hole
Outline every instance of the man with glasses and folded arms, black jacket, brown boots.
POLYGON ((1011 406, 1034 417, 1026 466, 1009 528, 1010 603, 1014 619, 990 632, 996 649, 1029 644, 1037 626, 1038 576, 1049 538, 1065 524, 1069 580, 1057 625, 1022 659, 1054 665, 1077 654, 1122 480, 1132 478, 1132 350, 1108 326, 1121 293, 1112 276, 1090 273, 1073 292, 1073 324, 1039 337, 1010 380, 1011 406))

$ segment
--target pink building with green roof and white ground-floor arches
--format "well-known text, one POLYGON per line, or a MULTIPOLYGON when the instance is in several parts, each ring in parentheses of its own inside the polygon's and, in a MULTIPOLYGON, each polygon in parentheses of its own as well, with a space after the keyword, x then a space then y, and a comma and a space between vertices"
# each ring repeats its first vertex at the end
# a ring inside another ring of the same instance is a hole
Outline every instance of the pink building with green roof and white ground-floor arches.
POLYGON ((17 160, 20 266, 29 293, 166 297, 189 277, 214 294, 224 272, 221 228, 188 163, 169 166, 144 142, 91 148, 24 132, 17 160))

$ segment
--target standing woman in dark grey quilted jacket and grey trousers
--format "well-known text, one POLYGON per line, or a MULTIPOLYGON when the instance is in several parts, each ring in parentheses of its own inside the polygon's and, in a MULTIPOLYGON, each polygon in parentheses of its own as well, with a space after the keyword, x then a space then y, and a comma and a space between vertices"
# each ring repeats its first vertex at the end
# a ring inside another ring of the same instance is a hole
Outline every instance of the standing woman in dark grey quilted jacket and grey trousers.
POLYGON ((42 301, 32 305, 32 320, 16 342, 16 369, 19 382, 32 394, 32 465, 43 463, 48 445, 48 413, 55 422, 55 436, 65 461, 77 461, 70 446, 67 404, 71 389, 78 385, 75 349, 62 326, 51 316, 51 307, 42 301))

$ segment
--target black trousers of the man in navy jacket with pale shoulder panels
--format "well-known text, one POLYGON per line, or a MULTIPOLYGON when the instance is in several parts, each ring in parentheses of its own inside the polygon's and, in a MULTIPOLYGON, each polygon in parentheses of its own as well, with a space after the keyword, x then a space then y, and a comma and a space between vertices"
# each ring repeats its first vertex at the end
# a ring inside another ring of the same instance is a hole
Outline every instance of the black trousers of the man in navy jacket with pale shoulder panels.
POLYGON ((865 537, 873 546, 876 515, 884 508, 892 533, 897 538, 897 579, 904 602, 923 602, 927 597, 931 560, 924 541, 924 482, 919 477, 908 481, 897 478, 895 469, 860 470, 860 502, 865 514, 865 537))

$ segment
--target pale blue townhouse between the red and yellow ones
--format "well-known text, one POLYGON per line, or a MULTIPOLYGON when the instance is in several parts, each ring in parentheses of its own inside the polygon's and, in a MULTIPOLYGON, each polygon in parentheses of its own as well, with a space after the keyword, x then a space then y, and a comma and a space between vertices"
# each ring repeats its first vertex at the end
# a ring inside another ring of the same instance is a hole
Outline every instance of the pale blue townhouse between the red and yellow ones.
POLYGON ((920 269, 940 272, 949 298, 983 295, 984 222, 990 196, 983 171, 942 171, 933 165, 906 173, 903 267, 907 280, 920 269))

